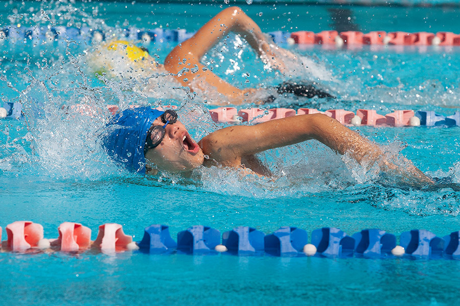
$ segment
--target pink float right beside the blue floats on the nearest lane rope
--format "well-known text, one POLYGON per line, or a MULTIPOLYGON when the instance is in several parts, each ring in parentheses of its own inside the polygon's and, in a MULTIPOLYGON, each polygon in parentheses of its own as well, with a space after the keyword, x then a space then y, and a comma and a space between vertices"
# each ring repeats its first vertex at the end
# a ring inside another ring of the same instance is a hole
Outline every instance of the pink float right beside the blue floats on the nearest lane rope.
POLYGON ((99 226, 99 233, 93 246, 105 251, 122 251, 132 242, 132 236, 123 233, 123 226, 106 223, 99 226))

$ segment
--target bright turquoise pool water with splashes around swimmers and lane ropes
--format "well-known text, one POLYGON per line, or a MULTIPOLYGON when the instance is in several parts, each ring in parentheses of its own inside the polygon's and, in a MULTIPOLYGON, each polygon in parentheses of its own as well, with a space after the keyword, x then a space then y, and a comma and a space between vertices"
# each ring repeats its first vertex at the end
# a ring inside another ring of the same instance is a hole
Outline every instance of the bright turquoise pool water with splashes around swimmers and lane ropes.
MULTIPOLYGON (((220 10, 219 4, 48 2, 47 6, 42 15, 60 24, 74 26, 82 19, 102 24, 103 19, 105 31, 133 24, 148 27, 152 22, 157 22, 152 27, 168 23, 171 28, 193 31, 220 10), (171 8, 177 12, 174 17, 171 8)), ((34 7, 39 4, 1 3, 0 25, 52 22, 28 19, 36 13, 34 7), (14 9, 17 14, 12 13, 14 9)), ((288 31, 330 29, 328 8, 284 4, 243 7, 264 32, 286 26, 288 31), (263 14, 259 16, 259 12, 263 14), (290 18, 292 12, 309 18, 290 18)), ((356 23, 362 31, 460 32, 456 10, 349 9, 361 16, 356 23), (391 21, 368 18, 379 14, 392 16, 391 21)), ((147 47, 164 59, 173 45, 147 47)), ((337 96, 331 100, 286 96, 277 99, 274 106, 279 107, 369 108, 380 114, 412 109, 451 115, 460 110, 458 48, 286 47, 309 68, 293 62, 288 77, 264 70, 235 36, 218 45, 225 49, 223 55, 210 52, 204 62, 217 58, 218 66, 217 61, 210 65, 234 85, 263 83, 269 87, 286 78, 305 78, 320 80, 337 96), (229 59, 240 49, 237 62, 241 69, 235 70, 235 62, 229 59)), ((323 226, 339 227, 349 235, 380 228, 397 237, 415 228, 439 237, 460 230, 458 126, 353 127, 380 144, 396 162, 403 163, 398 160, 402 154, 428 175, 442 179, 443 183, 434 187, 413 188, 401 184, 398 177, 375 169, 366 171, 350 157, 338 156, 314 141, 261 154, 273 170, 274 180, 215 167, 198 169, 191 178, 127 173, 100 147, 98 136, 108 111, 85 116, 62 110, 62 106, 84 103, 102 109, 107 104, 172 103, 179 107, 181 120, 196 140, 223 125, 213 123, 206 114, 213 106, 205 105, 203 97, 180 88, 171 90, 167 82, 155 94, 136 87, 136 80, 102 83, 87 65, 85 53, 93 49, 89 42, 34 47, 30 42, 7 41, 0 46, 2 102, 20 101, 26 116, 0 121, 0 226, 4 240, 5 226, 16 220, 42 224, 45 238, 56 238, 60 223, 75 221, 90 227, 93 239, 99 225, 116 222, 135 241, 141 240, 144 227, 150 224, 169 225, 173 238, 195 224, 221 233, 247 225, 266 234, 291 225, 309 235, 323 226)), ((2 252, 0 271, 0 304, 451 305, 460 298, 460 262, 455 260, 2 252)))

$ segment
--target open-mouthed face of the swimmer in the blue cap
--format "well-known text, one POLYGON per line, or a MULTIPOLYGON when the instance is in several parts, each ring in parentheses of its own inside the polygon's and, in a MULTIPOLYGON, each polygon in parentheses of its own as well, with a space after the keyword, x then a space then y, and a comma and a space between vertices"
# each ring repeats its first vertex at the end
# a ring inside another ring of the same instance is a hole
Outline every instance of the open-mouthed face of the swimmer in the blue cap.
MULTIPOLYGON (((156 118, 152 125, 163 126, 164 123, 156 118)), ((163 141, 146 152, 147 163, 171 172, 188 171, 203 164, 203 151, 180 121, 166 125, 165 129, 163 141)))

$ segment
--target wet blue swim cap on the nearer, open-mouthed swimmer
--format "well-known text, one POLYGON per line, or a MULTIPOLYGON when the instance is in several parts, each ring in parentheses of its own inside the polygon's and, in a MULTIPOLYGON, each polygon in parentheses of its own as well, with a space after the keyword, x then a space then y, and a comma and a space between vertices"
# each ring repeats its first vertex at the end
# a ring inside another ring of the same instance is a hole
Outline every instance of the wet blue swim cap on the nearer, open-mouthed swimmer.
POLYGON ((107 123, 102 145, 107 154, 132 172, 145 174, 144 146, 153 121, 164 112, 151 107, 127 109, 107 123))

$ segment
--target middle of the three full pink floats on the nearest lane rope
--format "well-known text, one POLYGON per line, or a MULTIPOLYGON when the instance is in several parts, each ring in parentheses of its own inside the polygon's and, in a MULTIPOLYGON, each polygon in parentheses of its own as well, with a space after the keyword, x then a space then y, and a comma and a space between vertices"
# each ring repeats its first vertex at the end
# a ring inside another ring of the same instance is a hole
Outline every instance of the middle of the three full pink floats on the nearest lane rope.
POLYGON ((75 222, 64 222, 58 227, 59 238, 51 243, 61 251, 75 252, 86 249, 91 244, 90 228, 75 222))

